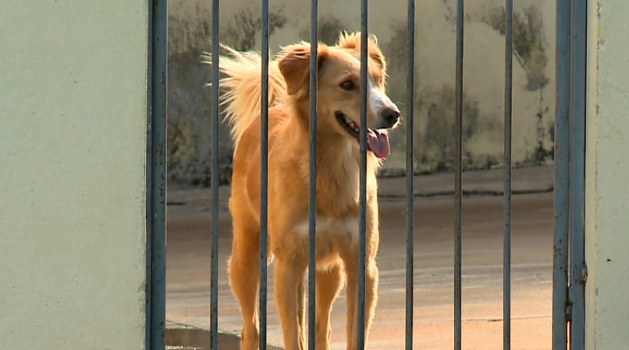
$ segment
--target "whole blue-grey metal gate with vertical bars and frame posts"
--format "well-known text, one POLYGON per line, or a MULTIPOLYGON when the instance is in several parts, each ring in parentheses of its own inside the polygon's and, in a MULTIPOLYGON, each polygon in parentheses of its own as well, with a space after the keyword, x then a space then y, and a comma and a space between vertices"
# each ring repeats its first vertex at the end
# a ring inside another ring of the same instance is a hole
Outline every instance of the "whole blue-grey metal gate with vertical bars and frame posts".
MULTIPOLYGON (((211 28, 212 51, 218 52, 219 4, 212 1, 211 28)), ((361 0, 361 32, 368 33, 367 0, 361 0)), ((408 0, 408 33, 415 32, 415 1, 408 0)), ((505 1, 505 91, 504 91, 504 232, 503 232, 503 349, 511 348, 511 100, 513 62, 513 0, 505 1)), ((462 90, 463 90, 463 32, 464 1, 457 0, 456 11, 456 108, 455 130, 455 298, 453 349, 462 349, 461 334, 461 288, 462 288, 462 90)), ((316 92, 316 43, 317 43, 318 1, 311 1, 311 80, 312 92, 316 92)), ((147 349, 165 349, 165 302, 166 302, 166 67, 167 67, 167 1, 150 1, 149 21, 149 77, 147 108, 150 119, 147 125, 147 288, 146 288, 146 341, 147 349)), ((584 349, 584 284, 587 270, 584 262, 584 138, 585 138, 585 97, 586 97, 586 27, 587 1, 557 0, 557 53, 556 53, 556 114, 555 114, 555 241, 553 258, 553 300, 552 300, 552 349, 584 349), (569 325, 569 327, 568 327, 569 325)), ((367 77, 367 35, 362 35, 361 80, 367 77)), ((408 35, 408 106, 413 105, 414 35, 408 35)), ((269 64, 269 0, 262 0, 262 86, 268 84, 269 64)), ((212 155, 218 152, 218 55, 213 55, 212 81, 212 155)), ((361 122, 366 124, 367 88, 361 86, 361 122)), ((262 106, 267 106, 268 91, 262 89, 262 106)), ((311 140, 316 128, 316 93, 311 98, 310 130, 311 140)), ((408 109, 406 118, 406 349, 412 349, 413 340, 413 108, 408 109)), ((268 132, 268 109, 262 108, 262 135, 268 132)), ((359 275, 359 334, 357 342, 362 349, 364 344, 364 245, 366 219, 366 128, 360 132, 360 275, 359 275)), ((261 249, 260 249, 260 349, 267 344, 267 150, 268 140, 262 138, 262 207, 261 207, 261 249)), ((309 221, 310 256, 316 251, 316 143, 310 147, 310 196, 309 221)), ((211 160, 212 184, 218 179, 218 161, 211 160)), ((211 188, 212 251, 211 251, 211 333, 218 332, 218 186, 211 188)), ((315 295, 314 259, 308 270, 308 294, 315 295)), ((315 349, 315 303, 316 298, 308 298, 308 349, 315 349)), ((211 349, 217 349, 217 337, 212 337, 211 349)))

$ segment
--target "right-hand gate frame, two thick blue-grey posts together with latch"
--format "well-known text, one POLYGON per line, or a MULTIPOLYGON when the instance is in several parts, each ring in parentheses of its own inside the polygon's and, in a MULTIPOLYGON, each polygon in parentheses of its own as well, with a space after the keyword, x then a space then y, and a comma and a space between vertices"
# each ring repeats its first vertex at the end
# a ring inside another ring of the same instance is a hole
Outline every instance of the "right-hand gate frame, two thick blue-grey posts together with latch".
POLYGON ((585 346, 588 1, 557 0, 552 349, 585 346), (569 325, 569 327, 568 327, 569 325))

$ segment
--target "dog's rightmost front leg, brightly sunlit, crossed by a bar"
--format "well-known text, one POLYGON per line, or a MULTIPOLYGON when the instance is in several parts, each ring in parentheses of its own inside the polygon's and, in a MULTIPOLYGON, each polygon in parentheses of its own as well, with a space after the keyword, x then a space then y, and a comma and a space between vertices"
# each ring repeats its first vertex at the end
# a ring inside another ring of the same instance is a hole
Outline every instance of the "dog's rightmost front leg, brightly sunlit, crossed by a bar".
MULTIPOLYGON (((354 260, 354 259, 352 259, 354 260)), ((358 348, 358 259, 345 263, 347 268, 347 350, 358 348)), ((369 330, 377 304, 379 270, 374 259, 367 257, 364 270, 364 349, 367 349, 369 330)))

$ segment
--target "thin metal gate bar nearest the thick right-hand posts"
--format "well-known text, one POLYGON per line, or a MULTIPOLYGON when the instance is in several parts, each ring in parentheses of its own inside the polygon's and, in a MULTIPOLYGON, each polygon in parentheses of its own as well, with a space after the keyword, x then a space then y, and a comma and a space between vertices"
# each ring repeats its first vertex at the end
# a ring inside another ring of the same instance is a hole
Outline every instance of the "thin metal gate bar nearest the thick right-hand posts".
POLYGON ((513 0, 505 5, 504 62, 504 247, 503 349, 511 349, 511 96, 513 92, 513 0))

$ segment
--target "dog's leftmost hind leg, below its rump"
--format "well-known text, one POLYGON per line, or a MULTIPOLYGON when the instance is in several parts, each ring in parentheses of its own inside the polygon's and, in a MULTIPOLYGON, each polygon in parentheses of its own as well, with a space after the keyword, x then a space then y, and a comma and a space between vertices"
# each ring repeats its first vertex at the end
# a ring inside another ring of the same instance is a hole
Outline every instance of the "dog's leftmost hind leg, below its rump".
MULTIPOLYGON (((235 208, 234 208, 235 209, 235 208)), ((233 212, 233 246, 229 260, 231 290, 243 315, 242 350, 257 350, 260 328, 257 290, 260 285, 260 227, 246 213, 233 212)))

